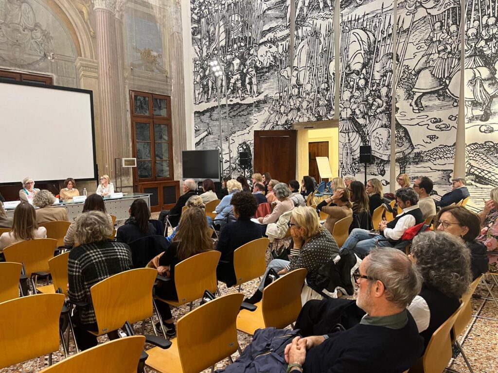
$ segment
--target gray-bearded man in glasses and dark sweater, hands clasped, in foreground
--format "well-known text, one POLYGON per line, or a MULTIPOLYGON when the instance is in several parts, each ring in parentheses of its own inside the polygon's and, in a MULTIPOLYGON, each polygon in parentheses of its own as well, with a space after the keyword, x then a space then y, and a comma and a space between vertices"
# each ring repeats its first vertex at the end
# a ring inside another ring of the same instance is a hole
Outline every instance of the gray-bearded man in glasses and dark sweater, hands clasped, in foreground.
POLYGON ((345 331, 295 337, 285 348, 287 372, 400 373, 422 355, 423 338, 406 310, 422 287, 416 266, 397 249, 374 249, 354 277, 356 303, 367 314, 345 331))

